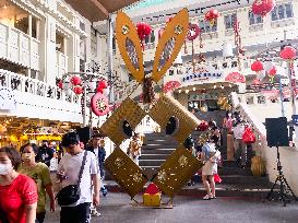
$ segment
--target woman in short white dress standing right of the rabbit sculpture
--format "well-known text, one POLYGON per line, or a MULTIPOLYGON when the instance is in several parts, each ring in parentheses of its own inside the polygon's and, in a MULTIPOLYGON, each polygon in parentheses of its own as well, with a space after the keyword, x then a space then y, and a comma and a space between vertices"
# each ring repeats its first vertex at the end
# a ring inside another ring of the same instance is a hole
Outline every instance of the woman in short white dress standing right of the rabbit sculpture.
POLYGON ((217 174, 217 162, 220 159, 220 152, 216 150, 216 145, 211 139, 202 148, 201 160, 204 163, 202 167, 202 180, 205 186, 207 195, 204 200, 215 199, 215 181, 214 174, 217 174))

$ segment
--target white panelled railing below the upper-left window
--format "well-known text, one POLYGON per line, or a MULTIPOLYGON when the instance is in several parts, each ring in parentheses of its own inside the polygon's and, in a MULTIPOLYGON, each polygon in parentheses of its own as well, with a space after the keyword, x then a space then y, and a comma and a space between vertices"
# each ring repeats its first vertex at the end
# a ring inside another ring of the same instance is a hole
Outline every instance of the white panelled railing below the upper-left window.
POLYGON ((0 23, 0 58, 39 70, 39 42, 27 34, 0 23))

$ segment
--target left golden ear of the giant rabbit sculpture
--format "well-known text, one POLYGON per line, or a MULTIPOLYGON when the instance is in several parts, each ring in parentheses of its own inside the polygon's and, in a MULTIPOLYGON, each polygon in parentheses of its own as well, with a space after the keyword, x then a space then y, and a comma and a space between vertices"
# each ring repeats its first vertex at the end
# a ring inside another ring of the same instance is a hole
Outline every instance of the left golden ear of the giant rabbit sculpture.
POLYGON ((138 82, 143 82, 144 64, 141 40, 134 24, 123 12, 117 14, 116 38, 128 70, 138 82))

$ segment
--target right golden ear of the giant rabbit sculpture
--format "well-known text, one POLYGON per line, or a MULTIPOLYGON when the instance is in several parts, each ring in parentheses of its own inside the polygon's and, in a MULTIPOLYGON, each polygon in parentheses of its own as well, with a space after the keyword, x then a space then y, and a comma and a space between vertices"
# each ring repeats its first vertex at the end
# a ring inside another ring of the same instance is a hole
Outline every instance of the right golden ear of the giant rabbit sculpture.
POLYGON ((179 54, 189 27, 189 13, 182 9, 167 24, 156 48, 153 62, 153 80, 158 82, 179 54))

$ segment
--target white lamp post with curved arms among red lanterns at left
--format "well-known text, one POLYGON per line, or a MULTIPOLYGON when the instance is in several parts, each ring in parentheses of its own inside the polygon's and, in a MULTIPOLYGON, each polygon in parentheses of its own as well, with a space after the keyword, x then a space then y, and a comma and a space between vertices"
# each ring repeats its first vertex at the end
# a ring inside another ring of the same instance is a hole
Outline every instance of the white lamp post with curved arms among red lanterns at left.
POLYGON ((62 81, 64 84, 64 80, 70 77, 80 77, 82 80, 83 87, 83 103, 82 103, 82 116, 83 116, 83 127, 86 127, 86 108, 87 108, 87 94, 95 93, 96 84, 94 82, 98 82, 99 80, 107 81, 107 77, 98 73, 92 72, 68 72, 62 75, 62 81), (95 85, 95 87, 93 87, 95 85))

